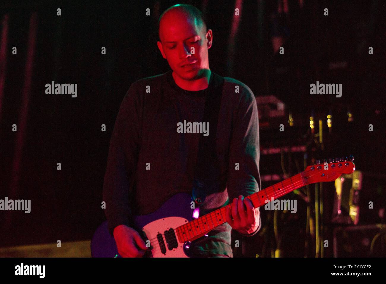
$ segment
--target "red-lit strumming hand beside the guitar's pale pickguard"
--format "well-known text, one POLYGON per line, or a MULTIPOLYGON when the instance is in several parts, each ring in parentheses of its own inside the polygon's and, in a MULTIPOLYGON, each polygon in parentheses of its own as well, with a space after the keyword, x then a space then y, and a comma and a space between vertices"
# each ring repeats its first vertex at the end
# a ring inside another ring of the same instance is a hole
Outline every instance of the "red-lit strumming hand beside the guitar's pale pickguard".
POLYGON ((143 257, 148 247, 133 228, 119 225, 113 231, 118 253, 122 257, 143 257))

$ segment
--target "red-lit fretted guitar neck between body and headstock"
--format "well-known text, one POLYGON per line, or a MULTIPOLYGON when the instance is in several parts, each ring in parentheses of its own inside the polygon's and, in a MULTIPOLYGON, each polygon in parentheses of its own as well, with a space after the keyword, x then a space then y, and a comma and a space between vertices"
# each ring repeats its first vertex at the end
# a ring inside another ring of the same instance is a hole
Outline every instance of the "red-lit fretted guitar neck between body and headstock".
MULTIPOLYGON (((303 187, 305 185, 305 172, 298 173, 289 179, 285 179, 277 184, 271 185, 263 190, 247 196, 252 201, 255 208, 266 204, 266 200, 272 201, 285 194, 303 187)), ((189 223, 183 224, 175 229, 178 240, 183 243, 185 241, 193 241, 201 236, 207 234, 213 228, 226 223, 225 208, 230 207, 231 204, 221 207, 211 213, 205 214, 189 223)))

